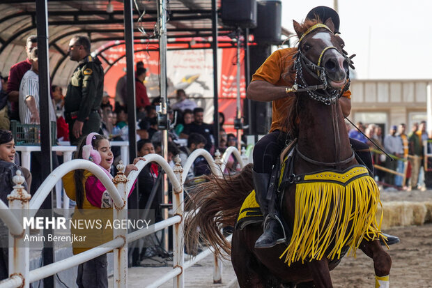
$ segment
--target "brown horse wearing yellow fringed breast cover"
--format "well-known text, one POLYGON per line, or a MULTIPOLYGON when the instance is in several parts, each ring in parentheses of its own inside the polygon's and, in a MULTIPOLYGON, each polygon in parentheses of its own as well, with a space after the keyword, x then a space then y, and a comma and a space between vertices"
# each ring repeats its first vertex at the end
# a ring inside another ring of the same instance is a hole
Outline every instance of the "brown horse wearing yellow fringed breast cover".
POLYGON ((192 251, 201 239, 217 255, 231 255, 240 287, 332 287, 330 271, 347 252, 355 256, 357 248, 373 259, 378 283, 388 277, 392 264, 379 242, 379 190, 350 147, 339 100, 352 62, 331 19, 293 24, 299 43, 288 127, 297 144, 280 209, 293 232, 291 241, 256 249, 262 225, 235 226, 240 206, 253 190, 249 164, 233 176, 210 175, 190 192, 186 210, 195 212, 185 216, 185 243, 192 251), (356 174, 362 176, 354 181, 356 174), (352 182, 344 186, 348 179, 352 182), (230 226, 231 245, 223 229, 230 226))

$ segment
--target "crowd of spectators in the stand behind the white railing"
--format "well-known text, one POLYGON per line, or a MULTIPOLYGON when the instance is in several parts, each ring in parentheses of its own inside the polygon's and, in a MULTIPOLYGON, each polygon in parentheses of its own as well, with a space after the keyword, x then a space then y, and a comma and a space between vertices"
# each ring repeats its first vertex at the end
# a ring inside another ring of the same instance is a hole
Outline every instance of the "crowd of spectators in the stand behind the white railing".
MULTIPOLYGON (((31 169, 20 167, 20 159, 15 151, 15 139, 18 136, 10 132, 11 121, 22 125, 40 125, 38 47, 37 37, 29 36, 24 47, 27 58, 10 68, 0 82, 0 183, 4 191, 13 190, 12 178, 17 170, 25 176, 25 188, 32 195, 43 182, 40 175, 41 153, 31 153, 31 169)), ((91 160, 99 165, 112 178, 114 165, 120 159, 118 147, 111 148, 111 141, 128 141, 128 93, 126 75, 118 80, 116 96, 111 98, 104 87, 104 72, 98 57, 91 56, 91 42, 86 36, 73 36, 69 43, 68 55, 77 62, 67 88, 52 85, 49 101, 49 119, 56 125, 56 141, 70 142, 77 146, 74 158, 91 160), (65 95, 64 92, 65 91, 65 95)), ((145 79, 146 68, 138 62, 134 71, 136 87, 137 155, 133 164, 126 166, 125 174, 137 167, 138 160, 149 153, 162 153, 162 132, 158 129, 157 107, 160 97, 152 101, 148 98, 145 79)), ((213 126, 203 121, 204 109, 194 100, 189 99, 183 89, 176 91, 176 100, 169 107, 169 119, 176 123, 169 129, 168 160, 174 165, 173 158, 180 156, 185 165, 187 157, 196 149, 206 149, 222 153, 227 146, 235 146, 234 135, 227 135, 221 115, 220 142, 215 143, 213 126)), ((59 165, 59 159, 53 154, 53 168, 59 165)), ((236 168, 236 161, 231 157, 226 169, 236 168)), ((228 171, 228 170, 227 170, 228 171)), ((192 165, 187 179, 192 182, 196 176, 208 174, 208 164, 204 158, 197 158, 192 165)), ((156 220, 161 217, 160 167, 155 163, 147 165, 138 177, 139 209, 155 210, 156 220)), ((77 170, 63 177, 65 192, 74 200, 75 209, 107 209, 112 206, 111 199, 102 183, 90 172, 77 170), (82 183, 83 185, 77 185, 82 183)), ((133 189, 132 189, 133 190, 133 189)), ((8 203, 6 195, 0 195, 8 203)), ((56 199, 56 201, 61 201, 56 199)), ((0 227, 0 236, 6 236, 7 229, 0 227)), ((78 233, 78 232, 77 232, 78 233)), ((99 235, 100 236, 100 235, 99 235)), ((96 238, 103 238, 96 235, 96 238)), ((4 238, 4 237, 3 237, 4 238)), ((3 239, 2 238, 2 239, 3 239)), ((2 245, 7 247, 7 245, 2 245)), ((84 250, 75 247, 77 254, 84 250)), ((106 255, 81 264, 78 268, 77 284, 79 287, 107 287, 106 255), (105 267, 105 268, 104 268, 105 267), (95 277, 96 275, 96 277, 95 277), (95 282, 96 281, 96 282, 95 282)), ((0 251, 0 280, 8 277, 8 249, 0 251)))

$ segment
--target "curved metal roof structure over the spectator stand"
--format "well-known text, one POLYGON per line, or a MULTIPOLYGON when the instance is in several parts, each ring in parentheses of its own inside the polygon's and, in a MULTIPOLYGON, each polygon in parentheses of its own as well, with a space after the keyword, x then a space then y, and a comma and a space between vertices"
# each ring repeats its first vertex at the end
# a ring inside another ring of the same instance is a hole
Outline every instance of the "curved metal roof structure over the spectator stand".
MULTIPOLYGON (((88 36, 92 51, 109 41, 123 40, 123 1, 54 0, 47 3, 49 70, 52 78, 61 75, 53 80, 53 84, 66 86, 76 66, 76 63, 64 61, 70 38, 75 34, 88 36), (111 13, 107 12, 109 5, 111 13)), ((220 0, 216 0, 216 6, 220 8, 220 0)), ((157 8, 156 0, 134 0, 134 40, 157 42, 157 8)), ((36 35, 36 3, 29 0, 0 1, 0 11, 0 72, 6 75, 10 66, 26 59, 23 48, 26 38, 36 35)), ((211 43, 212 0, 170 0, 167 11, 168 43, 194 37, 208 39, 211 43)), ((232 31, 220 23, 217 29, 219 36, 232 31)))

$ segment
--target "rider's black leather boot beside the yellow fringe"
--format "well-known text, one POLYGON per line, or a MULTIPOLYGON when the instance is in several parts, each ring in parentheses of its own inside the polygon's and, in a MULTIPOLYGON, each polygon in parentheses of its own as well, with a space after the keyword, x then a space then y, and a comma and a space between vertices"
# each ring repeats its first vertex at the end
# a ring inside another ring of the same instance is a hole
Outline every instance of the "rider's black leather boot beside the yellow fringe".
POLYGON ((271 174, 254 172, 255 198, 264 216, 264 232, 256 240, 255 248, 271 248, 285 241, 284 229, 276 215, 269 215, 269 200, 267 199, 271 174))

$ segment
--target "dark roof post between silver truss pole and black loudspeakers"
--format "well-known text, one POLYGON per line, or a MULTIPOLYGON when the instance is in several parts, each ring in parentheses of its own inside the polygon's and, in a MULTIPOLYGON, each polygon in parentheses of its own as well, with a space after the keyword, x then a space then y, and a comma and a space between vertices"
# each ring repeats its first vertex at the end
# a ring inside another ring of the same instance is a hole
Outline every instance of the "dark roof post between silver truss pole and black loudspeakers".
POLYGON ((216 0, 212 0, 212 50, 213 50, 213 106, 215 107, 213 116, 213 137, 215 138, 215 146, 219 146, 219 103, 217 96, 219 95, 217 86, 217 6, 216 0))

